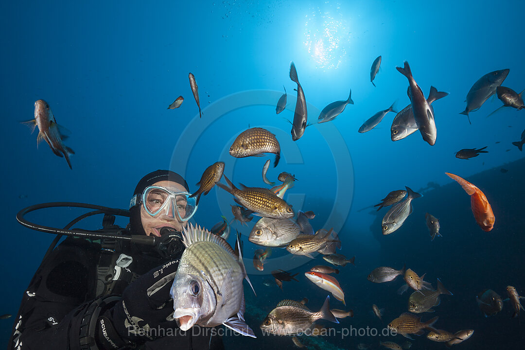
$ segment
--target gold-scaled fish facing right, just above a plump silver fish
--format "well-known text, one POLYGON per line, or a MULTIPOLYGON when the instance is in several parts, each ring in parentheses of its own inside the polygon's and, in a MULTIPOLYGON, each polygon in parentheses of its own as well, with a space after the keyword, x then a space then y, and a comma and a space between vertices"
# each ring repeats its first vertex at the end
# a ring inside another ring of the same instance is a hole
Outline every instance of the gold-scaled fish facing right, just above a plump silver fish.
POLYGON ((260 214, 260 216, 274 219, 289 219, 293 217, 292 208, 268 188, 246 187, 241 184, 241 189, 235 187, 228 177, 224 175, 226 183, 218 182, 217 186, 235 196, 237 203, 246 209, 260 214))

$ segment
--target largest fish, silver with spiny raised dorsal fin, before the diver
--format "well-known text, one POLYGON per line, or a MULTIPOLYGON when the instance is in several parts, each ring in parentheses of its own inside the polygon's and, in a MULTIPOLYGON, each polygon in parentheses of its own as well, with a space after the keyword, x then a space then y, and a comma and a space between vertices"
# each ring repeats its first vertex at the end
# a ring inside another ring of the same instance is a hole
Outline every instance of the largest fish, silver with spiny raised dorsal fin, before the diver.
POLYGON ((170 290, 173 318, 181 330, 224 324, 255 338, 244 321, 243 279, 250 282, 240 248, 237 256, 222 237, 193 225, 184 228, 183 243, 186 249, 170 290))

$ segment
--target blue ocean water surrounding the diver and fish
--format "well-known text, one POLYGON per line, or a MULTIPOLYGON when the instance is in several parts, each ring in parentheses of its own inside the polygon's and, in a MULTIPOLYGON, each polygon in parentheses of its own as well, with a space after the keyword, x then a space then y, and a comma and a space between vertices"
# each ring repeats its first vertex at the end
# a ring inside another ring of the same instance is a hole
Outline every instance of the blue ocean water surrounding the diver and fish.
MULTIPOLYGON (((275 133, 281 144, 281 161, 270 168, 270 179, 281 171, 295 174, 299 181, 285 199, 294 209, 316 213, 314 229, 337 227, 341 252, 357 256, 356 267, 342 268, 338 275, 348 308, 356 313, 350 321, 342 320, 343 325, 380 327, 369 315, 374 300, 385 304, 380 305, 386 309, 385 319, 407 311, 406 294, 395 293, 401 282, 372 285, 366 280, 375 267, 401 268, 407 263, 417 272, 427 272, 434 285, 439 277, 454 292, 443 298, 436 313, 424 314, 424 320, 439 315, 438 328, 475 329, 472 338, 458 346, 521 346, 523 325, 509 320, 510 305, 485 319, 475 296, 490 288, 505 298, 508 284, 525 294, 523 253, 518 249, 523 246, 519 196, 523 165, 508 165, 523 155, 511 144, 525 128, 523 111, 509 108, 487 118, 501 105, 498 99, 489 99, 470 114, 471 125, 459 112, 465 109, 472 84, 488 72, 509 68, 503 86, 517 92, 523 89, 524 9, 520 1, 4 2, 0 99, 6 116, 1 131, 6 283, 0 314, 16 315, 20 298, 54 238, 20 226, 15 220, 20 209, 51 201, 127 208, 144 174, 171 168, 196 190, 204 169, 219 160, 226 162, 225 174, 235 184, 263 186, 260 173, 267 157, 228 155, 241 131, 261 126, 275 133), (374 87, 370 66, 379 55, 381 71, 374 87), (374 130, 357 132, 363 121, 394 101, 397 110, 409 103, 406 78, 395 69, 404 60, 425 95, 430 86, 449 92, 433 104, 438 130, 434 146, 418 133, 392 142, 393 113, 374 130), (350 89, 355 103, 334 121, 309 126, 297 142, 291 141, 291 125, 285 120, 293 118, 296 100, 290 61, 295 62, 309 103, 310 122, 328 103, 345 100, 350 89), (188 83, 189 72, 199 87, 202 119, 188 83), (287 110, 276 115, 283 85, 287 110), (180 95, 185 99, 181 108, 167 110, 180 95), (72 170, 45 143, 37 147, 36 132, 31 134, 19 124, 33 118, 37 99, 45 99, 57 122, 71 131, 65 143, 75 151, 72 170), (484 146, 489 153, 471 160, 455 157, 460 149, 484 146), (500 167, 509 169, 508 176, 499 172, 500 167), (476 225, 469 198, 456 183, 444 189, 451 183, 444 172, 484 190, 495 209, 493 231, 484 232, 476 225), (379 203, 391 190, 405 185, 418 190, 429 182, 441 189, 416 199, 414 213, 391 236, 382 237, 380 232, 385 209, 379 217, 369 210, 358 211, 379 203), (432 244, 423 221, 426 211, 438 213, 434 215, 442 221, 444 237, 432 244)), ((230 204, 234 204, 230 195, 213 189, 201 198, 195 222, 210 228, 221 215, 231 218, 230 204)), ((46 211, 32 218, 62 227, 77 213, 46 211)), ((245 236, 247 265, 258 248, 246 237, 253 222, 248 228, 233 226, 245 236)), ((256 290, 261 292, 249 301, 269 312, 268 299, 261 296, 265 293, 272 305, 307 296, 316 309, 326 293, 303 277, 312 261, 295 258, 285 265, 276 259, 284 255, 275 251, 265 272, 293 267, 299 282, 285 282, 282 292, 275 285, 264 292, 262 280, 268 275, 250 266, 248 272, 254 274, 256 290)), ((332 301, 335 307, 344 307, 332 301)), ((248 323, 257 331, 262 320, 253 312, 248 323)), ((7 341, 13 318, 0 321, 2 340, 7 341)), ((405 341, 399 335, 392 340, 405 341)), ((378 342, 356 337, 324 341, 340 348, 378 342)), ((443 347, 424 336, 413 343, 414 348, 443 347)), ((265 337, 256 341, 233 337, 227 344, 293 346, 288 338, 265 337)))

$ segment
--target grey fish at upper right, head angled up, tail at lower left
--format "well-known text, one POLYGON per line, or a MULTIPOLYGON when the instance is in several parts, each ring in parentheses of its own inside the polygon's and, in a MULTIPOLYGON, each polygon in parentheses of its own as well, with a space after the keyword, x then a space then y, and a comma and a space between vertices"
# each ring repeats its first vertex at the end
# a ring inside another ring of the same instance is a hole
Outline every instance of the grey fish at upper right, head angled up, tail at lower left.
POLYGON ((496 88, 501 85, 503 80, 507 78, 509 69, 495 70, 482 76, 472 85, 467 93, 467 107, 459 114, 465 114, 470 122, 468 113, 474 112, 481 107, 493 94, 496 93, 496 88))

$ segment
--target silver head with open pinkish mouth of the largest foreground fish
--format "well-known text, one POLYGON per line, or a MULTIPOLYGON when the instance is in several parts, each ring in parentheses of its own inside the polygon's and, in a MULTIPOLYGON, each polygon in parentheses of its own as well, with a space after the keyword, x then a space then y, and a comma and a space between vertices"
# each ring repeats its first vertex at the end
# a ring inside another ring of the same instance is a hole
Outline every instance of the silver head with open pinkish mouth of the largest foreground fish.
POLYGON ((177 270, 170 295, 173 298, 173 318, 182 331, 189 330, 215 313, 215 291, 197 271, 186 273, 177 270))

